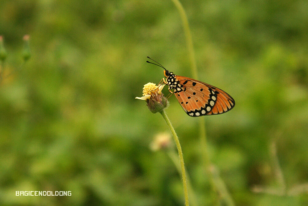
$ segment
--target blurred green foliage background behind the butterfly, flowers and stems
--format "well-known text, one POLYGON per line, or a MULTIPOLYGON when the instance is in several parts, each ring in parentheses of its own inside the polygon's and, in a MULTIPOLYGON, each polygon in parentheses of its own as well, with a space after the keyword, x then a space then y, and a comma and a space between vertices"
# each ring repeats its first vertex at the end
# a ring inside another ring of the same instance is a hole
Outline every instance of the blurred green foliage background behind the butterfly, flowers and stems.
MULTIPOLYGON (((308 2, 181 2, 198 80, 236 101, 225 114, 200 117, 211 161, 235 204, 308 205, 307 185, 293 196, 251 190, 279 188, 272 141, 287 189, 308 182, 308 2)), ((145 83, 163 77, 146 56, 192 76, 171 1, 4 0, 0 35, 7 52, 0 85, 1 205, 184 205, 172 160, 149 147, 168 127, 134 99, 145 83), (25 34, 31 58, 23 64, 25 34), (72 196, 16 197, 16 190, 72 196)), ((198 118, 185 114, 174 96, 169 100, 166 112, 198 205, 219 205, 202 167, 198 118)))

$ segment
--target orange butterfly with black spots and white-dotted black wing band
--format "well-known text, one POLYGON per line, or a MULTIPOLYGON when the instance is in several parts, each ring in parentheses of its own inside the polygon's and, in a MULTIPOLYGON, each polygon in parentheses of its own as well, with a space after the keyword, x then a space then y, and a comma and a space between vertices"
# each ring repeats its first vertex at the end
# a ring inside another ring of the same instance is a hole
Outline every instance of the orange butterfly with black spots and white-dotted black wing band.
MULTIPOLYGON (((150 57, 148 58, 151 59, 150 57)), ((155 60, 153 61, 156 62, 155 60)), ((152 62, 147 61, 147 63, 152 62)), ((152 64, 164 69, 166 80, 163 78, 163 83, 168 85, 171 95, 174 93, 176 99, 189 116, 222 114, 235 106, 234 99, 227 92, 189 77, 175 75, 160 63, 156 63, 152 64)))

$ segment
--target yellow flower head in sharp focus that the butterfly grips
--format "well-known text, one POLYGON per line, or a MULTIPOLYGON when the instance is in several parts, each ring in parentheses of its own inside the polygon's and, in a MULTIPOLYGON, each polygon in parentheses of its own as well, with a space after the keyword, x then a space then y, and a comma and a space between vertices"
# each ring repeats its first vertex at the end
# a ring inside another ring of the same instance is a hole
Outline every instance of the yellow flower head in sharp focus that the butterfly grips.
POLYGON ((136 97, 136 99, 146 100, 148 108, 152 113, 160 112, 167 107, 167 99, 161 93, 164 86, 165 84, 156 86, 154 83, 147 83, 143 87, 143 96, 136 97))

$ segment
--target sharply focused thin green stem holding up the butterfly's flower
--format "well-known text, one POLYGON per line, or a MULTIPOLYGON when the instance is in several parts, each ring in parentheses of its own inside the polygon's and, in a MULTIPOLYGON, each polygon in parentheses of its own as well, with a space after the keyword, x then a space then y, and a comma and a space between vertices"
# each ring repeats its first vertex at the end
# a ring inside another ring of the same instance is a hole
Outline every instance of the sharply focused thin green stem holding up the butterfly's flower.
POLYGON ((163 116, 164 120, 166 121, 173 139, 176 143, 176 147, 177 147, 177 151, 179 152, 179 157, 180 157, 180 164, 181 164, 181 171, 182 171, 182 180, 183 180, 183 188, 184 188, 184 196, 185 196, 185 206, 189 206, 189 201, 188 201, 188 190, 187 190, 187 185, 186 185, 186 174, 185 174, 185 166, 184 166, 184 158, 183 158, 183 153, 182 153, 182 149, 181 149, 181 145, 180 145, 180 141, 179 138, 176 135, 176 132, 174 130, 174 128, 172 127, 172 124, 168 118, 168 116, 166 115, 165 111, 162 110, 160 112, 160 114, 163 116))

